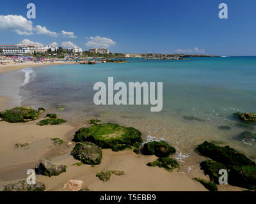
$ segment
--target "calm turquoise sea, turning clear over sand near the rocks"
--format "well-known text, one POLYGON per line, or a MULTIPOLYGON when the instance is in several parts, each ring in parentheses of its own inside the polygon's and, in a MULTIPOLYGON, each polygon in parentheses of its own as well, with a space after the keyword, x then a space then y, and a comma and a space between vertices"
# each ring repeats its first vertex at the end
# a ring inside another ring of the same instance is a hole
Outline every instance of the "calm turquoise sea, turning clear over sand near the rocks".
MULTIPOLYGON (((234 112, 256 112, 256 57, 195 57, 187 61, 128 59, 125 64, 74 64, 27 68, 20 87, 22 105, 44 106, 74 126, 101 119, 140 129, 179 149, 180 160, 193 155, 205 140, 228 144, 256 157, 256 142, 234 137, 248 131, 237 127, 234 112), (96 82, 163 82, 163 111, 145 105, 93 104, 96 82), (63 106, 60 112, 56 107, 63 106), (204 121, 185 120, 195 116, 204 121), (230 126, 230 130, 219 129, 230 126)), ((255 127, 250 131, 256 133, 255 127), (254 129, 254 130, 253 130, 254 129)))

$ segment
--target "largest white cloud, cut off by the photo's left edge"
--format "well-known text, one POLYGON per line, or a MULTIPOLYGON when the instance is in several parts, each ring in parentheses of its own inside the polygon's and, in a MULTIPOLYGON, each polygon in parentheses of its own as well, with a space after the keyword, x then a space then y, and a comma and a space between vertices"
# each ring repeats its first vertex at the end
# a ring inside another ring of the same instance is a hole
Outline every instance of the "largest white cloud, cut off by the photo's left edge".
POLYGON ((0 15, 0 30, 20 35, 33 34, 33 23, 21 15, 0 15))

